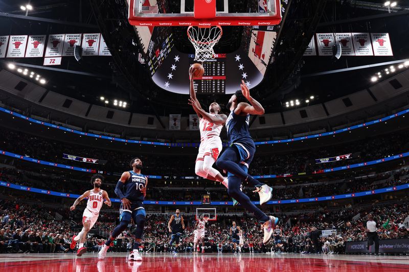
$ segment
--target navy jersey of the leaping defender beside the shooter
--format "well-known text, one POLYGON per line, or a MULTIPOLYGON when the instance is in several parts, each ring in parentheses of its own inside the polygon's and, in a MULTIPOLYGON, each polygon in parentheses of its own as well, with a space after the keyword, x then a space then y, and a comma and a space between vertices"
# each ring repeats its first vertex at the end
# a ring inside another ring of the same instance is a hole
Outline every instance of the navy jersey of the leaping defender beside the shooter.
POLYGON ((248 131, 248 125, 250 122, 250 115, 240 116, 234 113, 232 110, 229 117, 226 120, 227 135, 229 137, 229 145, 237 142, 241 139, 250 139, 253 141, 250 132, 248 131))

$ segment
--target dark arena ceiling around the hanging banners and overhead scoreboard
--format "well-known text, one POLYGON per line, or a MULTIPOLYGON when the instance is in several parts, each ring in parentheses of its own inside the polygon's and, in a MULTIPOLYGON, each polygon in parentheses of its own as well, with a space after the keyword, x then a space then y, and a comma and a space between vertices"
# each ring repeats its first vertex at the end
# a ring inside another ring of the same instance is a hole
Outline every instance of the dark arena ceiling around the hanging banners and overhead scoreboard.
MULTIPOLYGON (((34 9, 28 13, 27 18, 13 16, 26 14, 20 9, 26 2, 0 1, 1 35, 101 32, 103 35, 119 38, 110 45, 114 51, 112 58, 84 57, 81 64, 74 58, 67 58, 59 67, 65 71, 43 70, 42 59, 14 60, 17 64, 37 66, 33 69, 37 69, 47 79, 47 88, 97 105, 102 103, 100 96, 127 101, 127 111, 132 112, 158 115, 190 112, 190 107, 185 103, 186 95, 168 93, 147 81, 147 68, 131 58, 132 52, 139 50, 132 45, 131 36, 135 33, 131 26, 124 27, 126 7, 123 10, 115 8, 126 6, 124 1, 32 0, 30 4, 34 9), (79 75, 76 71, 86 72, 88 75, 79 75), (130 72, 138 76, 129 77, 130 72)), ((275 62, 268 66, 263 82, 252 89, 267 112, 284 111, 286 101, 303 101, 311 95, 314 100, 310 105, 365 89, 372 84, 371 77, 383 66, 339 73, 327 73, 328 71, 409 58, 407 2, 397 1, 398 5, 391 13, 383 6, 384 1, 283 2, 288 9, 274 47, 275 62), (341 57, 337 61, 330 57, 303 57, 309 39, 315 32, 388 32, 394 56, 341 57), (314 73, 319 72, 324 72, 324 75, 314 76, 314 73)), ((237 3, 237 8, 240 9, 241 2, 237 3)), ((176 43, 179 50, 189 52, 192 48, 187 39, 183 39, 183 30, 173 31, 175 36, 180 37, 176 43)), ((225 40, 218 50, 226 53, 234 51, 240 46, 241 36, 240 27, 227 30, 225 40)), ((10 60, 6 60, 7 62, 0 62, 7 69, 6 64, 10 60)), ((208 103, 212 100, 226 101, 228 97, 209 96, 203 99, 208 103)))

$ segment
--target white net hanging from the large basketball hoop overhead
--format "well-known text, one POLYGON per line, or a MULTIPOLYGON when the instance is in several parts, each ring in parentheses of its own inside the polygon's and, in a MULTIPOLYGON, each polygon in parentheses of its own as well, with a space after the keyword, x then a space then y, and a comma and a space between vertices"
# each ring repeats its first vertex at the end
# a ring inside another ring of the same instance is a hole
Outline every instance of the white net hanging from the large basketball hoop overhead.
POLYGON ((210 28, 189 27, 188 38, 195 47, 195 60, 205 61, 214 59, 213 46, 220 40, 223 31, 219 26, 210 28))

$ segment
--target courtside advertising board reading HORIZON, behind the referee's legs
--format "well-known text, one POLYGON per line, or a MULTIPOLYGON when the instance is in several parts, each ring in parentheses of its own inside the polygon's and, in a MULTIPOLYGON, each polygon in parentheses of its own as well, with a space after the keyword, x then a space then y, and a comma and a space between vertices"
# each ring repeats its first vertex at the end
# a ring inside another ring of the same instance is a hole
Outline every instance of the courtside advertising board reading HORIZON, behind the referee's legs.
MULTIPOLYGON (((347 242, 345 253, 374 253, 374 246, 367 250, 367 241, 347 242)), ((379 253, 409 253, 409 239, 379 240, 379 253)))

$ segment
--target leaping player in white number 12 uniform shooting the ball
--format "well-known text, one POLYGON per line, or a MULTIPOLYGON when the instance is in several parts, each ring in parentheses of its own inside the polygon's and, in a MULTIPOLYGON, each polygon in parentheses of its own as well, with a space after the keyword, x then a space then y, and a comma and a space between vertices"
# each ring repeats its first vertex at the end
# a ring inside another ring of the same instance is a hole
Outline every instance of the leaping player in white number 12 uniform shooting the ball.
POLYGON ((195 88, 193 86, 193 73, 196 69, 189 69, 190 77, 190 100, 191 105, 199 116, 200 146, 197 154, 195 172, 197 176, 205 179, 221 182, 226 188, 228 179, 224 178, 218 170, 213 168, 219 154, 222 150, 220 132, 227 120, 225 114, 220 114, 221 107, 216 102, 209 106, 209 112, 203 110, 196 98, 195 88))

